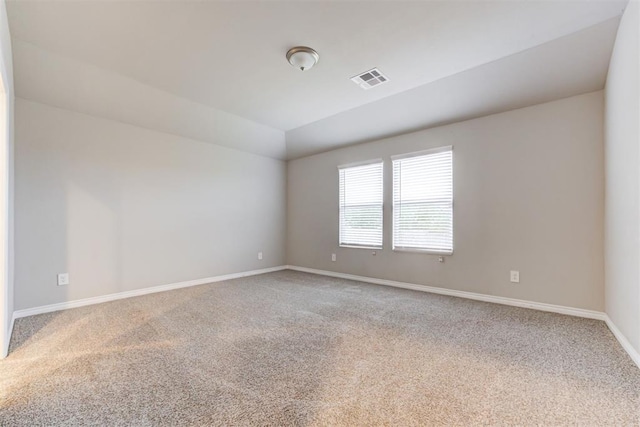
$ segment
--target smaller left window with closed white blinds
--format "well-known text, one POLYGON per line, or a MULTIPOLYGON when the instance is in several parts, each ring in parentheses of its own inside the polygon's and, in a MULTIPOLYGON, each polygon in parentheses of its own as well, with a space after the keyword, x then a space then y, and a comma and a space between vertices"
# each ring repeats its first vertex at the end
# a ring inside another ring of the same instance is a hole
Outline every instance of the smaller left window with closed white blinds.
POLYGON ((341 166, 340 246, 382 248, 382 161, 341 166))

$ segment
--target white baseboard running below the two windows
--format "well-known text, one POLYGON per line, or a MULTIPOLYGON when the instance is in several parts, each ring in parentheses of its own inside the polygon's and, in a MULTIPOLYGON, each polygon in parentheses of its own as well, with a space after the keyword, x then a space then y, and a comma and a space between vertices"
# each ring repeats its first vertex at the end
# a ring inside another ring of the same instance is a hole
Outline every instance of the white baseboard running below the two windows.
POLYGON ((514 298, 498 297, 493 295, 477 294, 475 292, 456 291, 454 289, 437 288, 434 286, 417 285, 415 283, 396 282, 394 280, 376 279, 374 277, 356 276, 353 274, 336 273, 334 271, 316 270, 314 268, 287 266, 290 270, 304 271, 306 273, 320 274, 323 276, 338 277, 341 279, 358 280, 360 282, 376 285, 393 286, 395 288, 412 289, 414 291, 429 292, 432 294, 448 295, 452 297, 467 298, 477 301, 492 302, 496 304, 511 305, 515 307, 532 308, 534 310, 548 311, 551 313, 566 314, 569 316, 585 317, 587 319, 605 320, 605 314, 600 311, 584 310, 582 308, 565 307, 562 305, 545 304, 541 302, 525 301, 514 298))

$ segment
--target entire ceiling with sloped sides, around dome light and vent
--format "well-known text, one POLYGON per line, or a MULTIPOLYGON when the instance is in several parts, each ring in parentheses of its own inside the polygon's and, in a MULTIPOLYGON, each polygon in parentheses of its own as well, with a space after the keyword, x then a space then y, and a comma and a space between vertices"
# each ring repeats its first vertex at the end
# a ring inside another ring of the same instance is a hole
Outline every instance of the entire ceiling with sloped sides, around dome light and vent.
POLYGON ((17 96, 292 158, 601 89, 625 5, 9 1, 8 11, 17 96), (305 73, 284 58, 298 44, 321 55, 305 73), (369 91, 349 81, 373 67, 391 81, 369 91))

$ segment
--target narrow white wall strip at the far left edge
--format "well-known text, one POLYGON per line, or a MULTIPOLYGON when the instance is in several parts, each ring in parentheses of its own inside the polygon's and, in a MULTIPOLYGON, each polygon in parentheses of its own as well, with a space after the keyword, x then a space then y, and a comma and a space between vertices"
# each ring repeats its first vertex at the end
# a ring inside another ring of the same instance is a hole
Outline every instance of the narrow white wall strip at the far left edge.
POLYGON ((7 355, 13 316, 13 62, 4 0, 0 1, 0 357, 7 355))

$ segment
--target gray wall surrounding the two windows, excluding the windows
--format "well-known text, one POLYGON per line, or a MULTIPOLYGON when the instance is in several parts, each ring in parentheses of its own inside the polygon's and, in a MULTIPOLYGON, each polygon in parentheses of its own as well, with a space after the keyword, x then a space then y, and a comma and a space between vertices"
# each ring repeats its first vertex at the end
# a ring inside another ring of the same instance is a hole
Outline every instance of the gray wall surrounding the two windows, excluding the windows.
POLYGON ((602 311, 603 169, 602 91, 290 161, 287 262, 602 311), (440 264, 391 250, 389 156, 443 145, 454 147, 455 248, 440 264), (337 244, 336 167, 374 158, 386 177, 376 256, 337 244))

